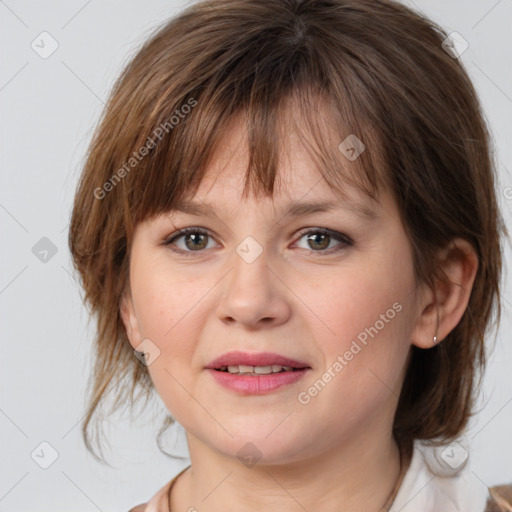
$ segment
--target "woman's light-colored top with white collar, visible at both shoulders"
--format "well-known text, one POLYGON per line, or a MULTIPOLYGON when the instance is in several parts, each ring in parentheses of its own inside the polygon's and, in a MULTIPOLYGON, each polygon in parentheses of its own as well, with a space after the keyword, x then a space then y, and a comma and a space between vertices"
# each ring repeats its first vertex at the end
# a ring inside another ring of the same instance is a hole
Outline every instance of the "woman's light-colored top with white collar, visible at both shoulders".
MULTIPOLYGON (((147 503, 129 512, 169 512, 169 488, 182 469, 147 503)), ((457 444, 433 447, 415 441, 389 512, 512 512, 512 485, 487 488, 471 471, 467 452, 457 444)))

